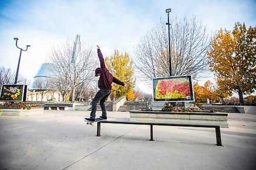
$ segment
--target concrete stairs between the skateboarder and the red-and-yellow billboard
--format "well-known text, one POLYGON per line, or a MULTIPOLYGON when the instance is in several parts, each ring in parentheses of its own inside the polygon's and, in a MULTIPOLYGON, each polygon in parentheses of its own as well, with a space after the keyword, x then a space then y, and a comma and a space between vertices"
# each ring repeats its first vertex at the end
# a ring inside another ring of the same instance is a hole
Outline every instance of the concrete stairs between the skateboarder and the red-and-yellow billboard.
POLYGON ((120 106, 118 111, 130 111, 146 109, 147 102, 130 102, 126 101, 123 106, 120 106))

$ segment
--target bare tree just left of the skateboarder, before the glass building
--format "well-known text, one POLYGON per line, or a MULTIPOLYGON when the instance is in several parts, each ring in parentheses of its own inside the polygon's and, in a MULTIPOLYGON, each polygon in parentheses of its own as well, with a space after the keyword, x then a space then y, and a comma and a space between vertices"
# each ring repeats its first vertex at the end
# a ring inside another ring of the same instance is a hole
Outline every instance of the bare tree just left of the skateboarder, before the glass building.
POLYGON ((94 77, 96 66, 95 53, 92 47, 86 44, 78 44, 74 60, 72 59, 73 42, 67 40, 65 44, 53 47, 49 59, 54 63, 51 71, 57 79, 65 78, 70 83, 72 102, 75 100, 75 92, 80 84, 89 84, 94 77))

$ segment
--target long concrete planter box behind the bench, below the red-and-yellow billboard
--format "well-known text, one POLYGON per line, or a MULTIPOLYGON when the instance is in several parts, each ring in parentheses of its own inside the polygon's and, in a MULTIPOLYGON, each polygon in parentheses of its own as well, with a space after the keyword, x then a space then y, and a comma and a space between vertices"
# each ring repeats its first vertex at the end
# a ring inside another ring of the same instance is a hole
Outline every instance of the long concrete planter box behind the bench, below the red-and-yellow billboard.
POLYGON ((219 125, 228 128, 226 113, 130 111, 131 122, 219 125))

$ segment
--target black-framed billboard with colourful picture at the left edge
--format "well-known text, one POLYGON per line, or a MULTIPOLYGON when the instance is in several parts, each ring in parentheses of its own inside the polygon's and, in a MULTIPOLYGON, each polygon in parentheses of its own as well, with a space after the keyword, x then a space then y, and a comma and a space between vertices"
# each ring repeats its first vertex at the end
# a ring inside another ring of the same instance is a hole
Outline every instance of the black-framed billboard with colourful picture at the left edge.
POLYGON ((25 102, 27 98, 27 85, 4 84, 0 91, 2 102, 25 102))

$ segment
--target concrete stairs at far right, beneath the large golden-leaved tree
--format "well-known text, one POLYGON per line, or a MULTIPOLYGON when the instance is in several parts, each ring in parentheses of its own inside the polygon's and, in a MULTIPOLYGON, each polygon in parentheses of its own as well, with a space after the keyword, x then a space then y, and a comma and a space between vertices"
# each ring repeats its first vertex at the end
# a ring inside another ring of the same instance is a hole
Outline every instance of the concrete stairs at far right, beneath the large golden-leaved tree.
POLYGON ((222 113, 239 113, 238 109, 234 106, 202 106, 201 109, 203 112, 211 112, 214 110, 215 112, 222 112, 222 113))

